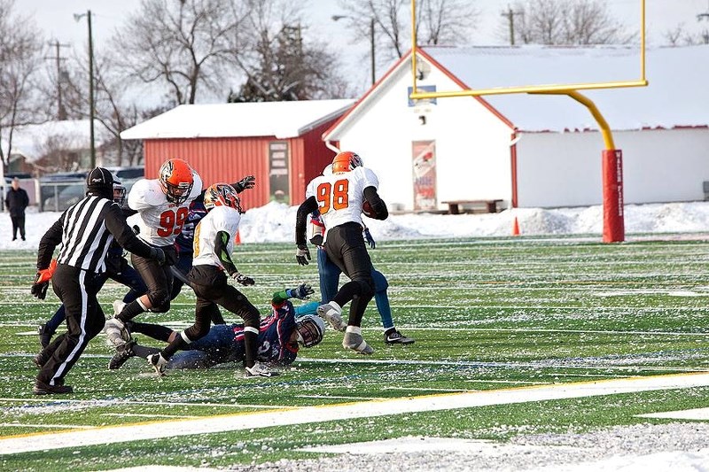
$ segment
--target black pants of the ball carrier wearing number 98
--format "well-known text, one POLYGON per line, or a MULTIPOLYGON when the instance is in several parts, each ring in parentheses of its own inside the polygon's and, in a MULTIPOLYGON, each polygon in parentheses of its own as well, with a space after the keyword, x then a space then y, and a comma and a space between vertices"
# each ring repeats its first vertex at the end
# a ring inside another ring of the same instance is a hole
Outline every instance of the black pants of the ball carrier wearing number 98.
POLYGON ((350 222, 330 228, 324 249, 327 257, 350 278, 350 282, 343 285, 332 300, 339 306, 352 300, 347 324, 361 326, 364 310, 374 297, 373 267, 364 244, 362 227, 350 222))

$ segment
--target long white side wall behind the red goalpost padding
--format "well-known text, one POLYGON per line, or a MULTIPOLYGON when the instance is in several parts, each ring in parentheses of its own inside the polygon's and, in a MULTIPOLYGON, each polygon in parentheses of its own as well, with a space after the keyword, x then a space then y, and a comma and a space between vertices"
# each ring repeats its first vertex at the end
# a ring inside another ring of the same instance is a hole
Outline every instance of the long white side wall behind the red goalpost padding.
MULTIPOLYGON (((706 128, 616 131, 627 204, 703 200, 709 181, 706 128)), ((598 132, 523 133, 517 143, 518 206, 603 203, 598 132)))

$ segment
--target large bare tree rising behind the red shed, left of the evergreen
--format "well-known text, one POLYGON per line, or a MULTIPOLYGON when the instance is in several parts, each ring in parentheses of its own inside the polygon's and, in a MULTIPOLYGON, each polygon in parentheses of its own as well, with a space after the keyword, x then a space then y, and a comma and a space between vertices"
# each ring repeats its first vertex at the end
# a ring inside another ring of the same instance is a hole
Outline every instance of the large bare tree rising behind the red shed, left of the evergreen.
POLYGON ((113 38, 121 66, 144 83, 160 84, 174 104, 194 104, 200 85, 222 89, 245 2, 144 0, 113 38))

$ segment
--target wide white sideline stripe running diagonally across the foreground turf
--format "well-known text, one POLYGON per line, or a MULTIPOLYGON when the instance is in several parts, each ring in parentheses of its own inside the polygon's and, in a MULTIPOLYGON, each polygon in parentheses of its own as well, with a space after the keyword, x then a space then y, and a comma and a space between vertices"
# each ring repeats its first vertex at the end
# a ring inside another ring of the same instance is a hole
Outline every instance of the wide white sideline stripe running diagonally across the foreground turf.
POLYGON ((704 386, 709 386, 709 374, 707 373, 674 374, 529 386, 496 391, 472 391, 412 398, 371 400, 338 405, 292 407, 270 412, 225 414, 200 419, 172 420, 169 422, 169 427, 167 427, 165 422, 145 422, 97 429, 0 437, 0 454, 27 453, 64 447, 149 440, 160 437, 351 420, 391 414, 432 412, 478 406, 510 405, 564 398, 596 397, 704 386))

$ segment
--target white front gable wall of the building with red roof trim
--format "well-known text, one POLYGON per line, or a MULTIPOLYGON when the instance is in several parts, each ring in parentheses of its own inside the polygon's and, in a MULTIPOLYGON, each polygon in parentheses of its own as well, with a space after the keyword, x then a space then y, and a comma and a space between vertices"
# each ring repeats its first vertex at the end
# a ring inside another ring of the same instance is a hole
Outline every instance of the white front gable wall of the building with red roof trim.
MULTIPOLYGON (((379 177, 379 194, 393 207, 414 207, 412 142, 436 142, 437 197, 451 199, 511 197, 510 135, 512 131, 471 97, 439 99, 438 104, 408 106, 409 67, 394 72, 374 97, 348 117, 339 136, 340 149, 356 151, 379 177), (419 115, 425 115, 422 125, 419 115)), ((434 69, 419 85, 459 89, 434 69)))

